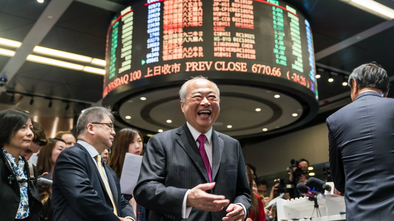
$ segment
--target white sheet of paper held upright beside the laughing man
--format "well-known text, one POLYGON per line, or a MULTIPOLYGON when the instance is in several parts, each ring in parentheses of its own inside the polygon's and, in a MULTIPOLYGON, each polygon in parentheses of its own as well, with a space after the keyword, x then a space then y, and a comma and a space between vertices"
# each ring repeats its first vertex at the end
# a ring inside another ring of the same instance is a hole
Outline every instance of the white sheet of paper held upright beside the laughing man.
POLYGON ((142 156, 126 153, 121 174, 122 193, 133 195, 133 190, 137 185, 141 163, 142 156))

